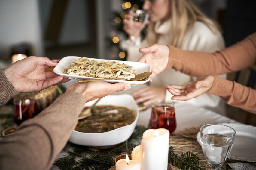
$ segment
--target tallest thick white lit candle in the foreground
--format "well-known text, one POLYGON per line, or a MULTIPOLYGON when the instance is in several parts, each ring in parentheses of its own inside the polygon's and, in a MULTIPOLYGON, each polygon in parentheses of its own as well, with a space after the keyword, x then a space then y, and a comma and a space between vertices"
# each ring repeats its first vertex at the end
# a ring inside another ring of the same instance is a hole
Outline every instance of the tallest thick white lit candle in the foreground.
POLYGON ((169 130, 148 129, 142 135, 140 145, 141 170, 167 170, 169 130))

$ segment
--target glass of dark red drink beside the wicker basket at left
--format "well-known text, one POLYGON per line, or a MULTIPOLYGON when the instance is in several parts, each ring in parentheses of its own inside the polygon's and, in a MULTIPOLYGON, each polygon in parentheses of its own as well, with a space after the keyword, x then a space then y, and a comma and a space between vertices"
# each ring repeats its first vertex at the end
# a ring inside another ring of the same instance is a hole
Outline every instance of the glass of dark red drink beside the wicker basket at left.
POLYGON ((33 118, 38 114, 38 107, 34 99, 14 98, 14 121, 21 122, 33 118))

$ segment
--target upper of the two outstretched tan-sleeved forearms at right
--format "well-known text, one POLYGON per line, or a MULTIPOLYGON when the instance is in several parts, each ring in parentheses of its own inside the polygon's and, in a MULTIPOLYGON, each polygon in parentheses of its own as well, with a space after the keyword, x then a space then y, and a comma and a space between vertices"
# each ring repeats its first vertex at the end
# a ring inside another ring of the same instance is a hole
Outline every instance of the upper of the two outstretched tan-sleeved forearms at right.
POLYGON ((215 53, 183 51, 169 46, 167 68, 202 77, 245 69, 256 61, 256 33, 243 41, 215 53), (241 60, 243 58, 243 60, 241 60))

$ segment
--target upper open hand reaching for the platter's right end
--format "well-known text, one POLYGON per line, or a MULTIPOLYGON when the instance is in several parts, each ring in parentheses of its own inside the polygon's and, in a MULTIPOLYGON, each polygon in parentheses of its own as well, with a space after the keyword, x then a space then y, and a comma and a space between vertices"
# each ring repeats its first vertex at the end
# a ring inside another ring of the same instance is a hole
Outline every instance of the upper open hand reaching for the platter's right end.
POLYGON ((167 45, 154 44, 146 48, 140 48, 139 52, 143 53, 138 62, 147 63, 151 66, 152 75, 150 82, 155 75, 166 69, 169 61, 169 47, 167 45))

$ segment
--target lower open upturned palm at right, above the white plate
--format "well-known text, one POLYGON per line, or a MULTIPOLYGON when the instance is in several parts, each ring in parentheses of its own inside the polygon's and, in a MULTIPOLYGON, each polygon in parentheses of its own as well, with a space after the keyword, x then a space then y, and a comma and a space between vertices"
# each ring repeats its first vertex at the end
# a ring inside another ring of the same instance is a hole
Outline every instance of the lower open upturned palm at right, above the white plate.
POLYGON ((207 75, 186 86, 168 85, 166 89, 174 95, 172 100, 187 101, 208 92, 212 88, 213 81, 214 77, 207 75))

